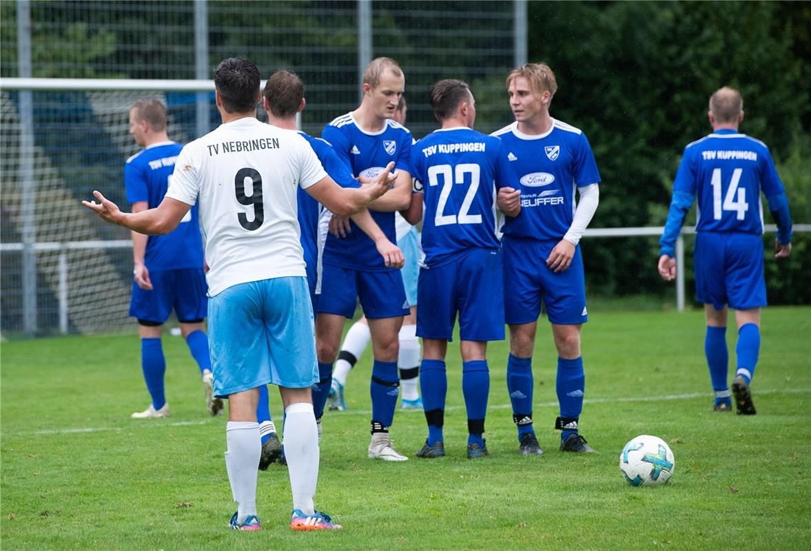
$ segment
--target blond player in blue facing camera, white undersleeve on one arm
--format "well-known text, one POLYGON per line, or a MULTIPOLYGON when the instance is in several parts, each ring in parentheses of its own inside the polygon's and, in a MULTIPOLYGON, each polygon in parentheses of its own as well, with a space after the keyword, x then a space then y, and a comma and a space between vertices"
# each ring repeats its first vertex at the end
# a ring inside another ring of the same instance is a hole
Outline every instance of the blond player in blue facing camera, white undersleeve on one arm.
POLYGON ((541 303, 546 306, 558 352, 556 391, 561 451, 593 452, 578 433, 586 378, 580 334, 586 317, 586 283, 577 243, 599 203, 600 175, 581 130, 552 118, 555 74, 528 63, 507 77, 515 122, 498 130, 518 177, 502 190, 504 317, 509 325, 507 388, 521 453, 542 455, 532 426, 532 353, 541 303), (575 190, 580 200, 575 203, 575 190), (517 216, 513 210, 520 205, 517 216), (511 216, 512 215, 512 216, 511 216))

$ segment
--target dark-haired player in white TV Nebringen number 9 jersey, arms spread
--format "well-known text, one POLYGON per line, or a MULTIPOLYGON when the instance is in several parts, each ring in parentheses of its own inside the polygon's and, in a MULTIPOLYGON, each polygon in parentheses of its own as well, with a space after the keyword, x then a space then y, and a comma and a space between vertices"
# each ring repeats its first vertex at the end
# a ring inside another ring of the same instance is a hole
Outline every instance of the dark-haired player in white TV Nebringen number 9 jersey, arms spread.
POLYGON ((228 58, 214 74, 222 125, 183 147, 172 186, 157 208, 123 213, 94 191, 83 204, 104 220, 139 233, 174 229, 194 203, 206 237, 208 314, 214 393, 229 399, 225 466, 238 510, 230 527, 261 528, 256 478, 261 444, 257 387, 279 386, 285 406, 285 451, 294 530, 340 528, 315 510, 319 448, 310 387, 318 381, 312 305, 296 220, 303 187, 343 215, 367 207, 393 182, 388 164, 370 186, 345 190, 324 173, 307 141, 261 123, 260 73, 228 58))

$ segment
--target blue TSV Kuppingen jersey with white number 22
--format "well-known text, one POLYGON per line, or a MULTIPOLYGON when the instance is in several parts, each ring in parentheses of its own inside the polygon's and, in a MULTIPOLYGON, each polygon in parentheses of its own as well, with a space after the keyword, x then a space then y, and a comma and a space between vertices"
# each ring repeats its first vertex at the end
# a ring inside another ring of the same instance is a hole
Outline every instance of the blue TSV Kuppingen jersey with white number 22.
POLYGON ((499 249, 496 190, 517 188, 501 140, 470 128, 435 130, 411 148, 411 175, 423 184, 423 250, 429 267, 471 247, 499 249))

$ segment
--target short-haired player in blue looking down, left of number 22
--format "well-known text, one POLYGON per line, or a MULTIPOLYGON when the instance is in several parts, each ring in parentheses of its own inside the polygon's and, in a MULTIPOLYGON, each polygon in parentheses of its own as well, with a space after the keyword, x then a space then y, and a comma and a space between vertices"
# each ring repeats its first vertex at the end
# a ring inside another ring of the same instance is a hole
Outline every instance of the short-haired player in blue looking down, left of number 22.
MULTIPOLYGON (((391 161, 397 169, 393 188, 369 210, 389 241, 396 241, 394 212, 411 201, 409 153, 411 133, 393 122, 397 102, 405 91, 405 77, 393 59, 376 58, 363 71, 363 100, 358 109, 337 117, 324 127, 321 137, 333 145, 354 177, 375 177, 391 161)), ((375 361, 371 373, 371 459, 405 461, 388 435, 399 394, 397 335, 409 313, 401 264, 381 258, 375 244, 350 224, 346 237, 327 236, 322 256, 323 277, 318 318, 315 320, 319 367, 331 373, 341 344, 345 318, 354 315, 360 298, 369 322, 375 361)))

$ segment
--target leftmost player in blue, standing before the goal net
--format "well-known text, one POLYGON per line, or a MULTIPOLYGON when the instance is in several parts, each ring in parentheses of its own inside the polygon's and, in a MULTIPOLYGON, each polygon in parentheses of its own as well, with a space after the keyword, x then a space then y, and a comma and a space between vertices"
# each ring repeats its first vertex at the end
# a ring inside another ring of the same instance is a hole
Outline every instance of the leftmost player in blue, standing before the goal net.
MULTIPOLYGON (((124 184, 133 212, 157 207, 169 187, 174 161, 182 149, 166 133, 166 108, 158 100, 138 100, 130 109, 130 134, 143 150, 127 159, 124 184)), ((206 284, 203 244, 197 207, 192 208, 174 232, 145 236, 132 232, 133 269, 130 315, 138 319, 141 369, 152 404, 135 419, 169 416, 164 392, 166 361, 161 346, 163 324, 174 309, 191 356, 200 367, 208 412, 217 415, 222 400, 212 395, 211 359, 203 321, 206 284)))

